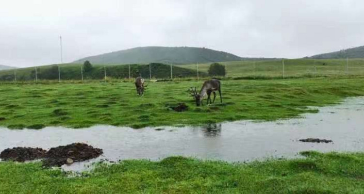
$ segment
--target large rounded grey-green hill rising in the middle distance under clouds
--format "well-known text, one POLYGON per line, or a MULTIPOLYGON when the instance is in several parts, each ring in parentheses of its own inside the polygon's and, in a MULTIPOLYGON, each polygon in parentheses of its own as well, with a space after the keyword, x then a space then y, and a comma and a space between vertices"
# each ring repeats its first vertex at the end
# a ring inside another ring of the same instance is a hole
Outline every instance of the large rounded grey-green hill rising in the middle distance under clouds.
POLYGON ((196 47, 137 47, 115 52, 85 57, 72 63, 82 64, 88 60, 92 64, 193 64, 222 61, 240 61, 237 55, 206 48, 196 47))

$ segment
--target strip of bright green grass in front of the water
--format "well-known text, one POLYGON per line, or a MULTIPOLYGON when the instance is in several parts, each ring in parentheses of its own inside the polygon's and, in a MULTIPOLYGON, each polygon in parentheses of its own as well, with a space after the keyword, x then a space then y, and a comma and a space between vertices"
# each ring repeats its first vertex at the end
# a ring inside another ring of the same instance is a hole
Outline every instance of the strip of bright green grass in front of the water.
POLYGON ((0 193, 364 193, 364 153, 302 154, 308 157, 249 163, 131 160, 99 164, 76 177, 40 162, 0 162, 0 193))

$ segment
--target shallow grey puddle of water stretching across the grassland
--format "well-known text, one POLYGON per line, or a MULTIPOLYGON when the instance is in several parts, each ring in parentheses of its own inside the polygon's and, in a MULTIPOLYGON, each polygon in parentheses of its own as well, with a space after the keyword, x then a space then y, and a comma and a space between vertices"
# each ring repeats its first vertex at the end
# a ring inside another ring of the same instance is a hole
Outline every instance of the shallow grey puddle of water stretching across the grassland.
MULTIPOLYGON (((94 126, 88 129, 48 127, 41 130, 0 128, 0 150, 15 146, 50 147, 83 142, 102 148, 100 159, 159 160, 189 156, 230 162, 265 157, 292 157, 299 151, 363 151, 364 97, 348 98, 342 104, 319 108, 305 118, 278 122, 228 122, 205 127, 130 129, 94 126), (303 138, 331 139, 331 144, 302 143, 303 138)), ((64 166, 80 170, 85 162, 64 166)))

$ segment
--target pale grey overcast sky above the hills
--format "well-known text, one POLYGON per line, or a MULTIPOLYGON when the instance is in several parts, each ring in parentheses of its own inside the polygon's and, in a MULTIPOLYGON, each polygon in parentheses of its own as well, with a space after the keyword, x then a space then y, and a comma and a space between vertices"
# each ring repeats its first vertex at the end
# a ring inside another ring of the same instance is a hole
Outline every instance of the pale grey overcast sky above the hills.
POLYGON ((0 64, 143 46, 299 58, 364 45, 364 0, 1 0, 0 64))

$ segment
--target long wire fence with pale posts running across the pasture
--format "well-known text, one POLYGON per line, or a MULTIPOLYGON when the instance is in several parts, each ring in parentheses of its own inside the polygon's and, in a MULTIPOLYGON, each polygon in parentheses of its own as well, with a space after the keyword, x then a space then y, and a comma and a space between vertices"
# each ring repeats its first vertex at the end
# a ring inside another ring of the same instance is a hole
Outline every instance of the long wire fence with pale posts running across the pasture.
MULTIPOLYGON (((110 79, 134 79, 138 76, 149 80, 171 80, 211 77, 208 68, 211 63, 173 65, 95 65, 86 71, 83 65, 52 65, 0 71, 0 81, 84 81, 110 79)), ((226 77, 241 79, 286 79, 292 77, 364 76, 364 59, 297 59, 269 61, 222 62, 226 77)))

